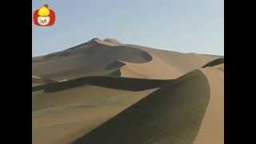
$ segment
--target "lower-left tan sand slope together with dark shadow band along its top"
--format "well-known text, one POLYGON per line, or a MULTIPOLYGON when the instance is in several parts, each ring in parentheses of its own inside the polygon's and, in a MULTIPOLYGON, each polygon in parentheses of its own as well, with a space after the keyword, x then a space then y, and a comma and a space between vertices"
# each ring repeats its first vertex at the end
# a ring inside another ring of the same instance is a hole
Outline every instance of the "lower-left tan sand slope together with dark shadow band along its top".
POLYGON ((41 86, 32 93, 33 143, 73 142, 163 84, 96 77, 41 86))

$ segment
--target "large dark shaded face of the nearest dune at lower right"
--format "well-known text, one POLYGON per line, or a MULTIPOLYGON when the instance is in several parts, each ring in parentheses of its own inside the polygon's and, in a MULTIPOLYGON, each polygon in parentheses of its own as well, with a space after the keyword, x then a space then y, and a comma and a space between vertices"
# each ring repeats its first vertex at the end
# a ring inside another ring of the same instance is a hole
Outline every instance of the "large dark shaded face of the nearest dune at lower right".
POLYGON ((177 81, 166 83, 73 143, 193 143, 210 87, 200 70, 177 81))

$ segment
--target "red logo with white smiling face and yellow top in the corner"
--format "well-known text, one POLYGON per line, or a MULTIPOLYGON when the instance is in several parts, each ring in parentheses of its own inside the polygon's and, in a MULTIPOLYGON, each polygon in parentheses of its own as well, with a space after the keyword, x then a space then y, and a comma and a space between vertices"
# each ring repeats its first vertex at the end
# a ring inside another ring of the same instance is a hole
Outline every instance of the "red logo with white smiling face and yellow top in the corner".
POLYGON ((50 10, 48 5, 42 6, 34 11, 34 25, 36 26, 53 26, 55 22, 55 12, 50 10))

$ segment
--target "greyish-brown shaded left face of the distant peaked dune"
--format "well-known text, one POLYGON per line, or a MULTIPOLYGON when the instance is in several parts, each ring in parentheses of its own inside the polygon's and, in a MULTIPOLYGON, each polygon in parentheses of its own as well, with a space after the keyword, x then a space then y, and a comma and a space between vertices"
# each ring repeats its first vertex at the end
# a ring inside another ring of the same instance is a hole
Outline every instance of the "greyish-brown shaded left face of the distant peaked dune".
POLYGON ((143 50, 110 46, 105 41, 91 40, 87 45, 77 46, 38 58, 32 58, 32 73, 54 80, 84 76, 109 75, 107 67, 116 60, 124 62, 150 62, 152 57, 143 50))

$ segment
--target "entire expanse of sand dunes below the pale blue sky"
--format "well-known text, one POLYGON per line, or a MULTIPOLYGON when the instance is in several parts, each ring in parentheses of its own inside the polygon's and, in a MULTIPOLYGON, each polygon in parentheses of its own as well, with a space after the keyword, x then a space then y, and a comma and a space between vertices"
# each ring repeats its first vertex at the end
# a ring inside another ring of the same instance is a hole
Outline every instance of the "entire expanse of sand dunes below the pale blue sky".
POLYGON ((34 144, 224 143, 223 57, 93 38, 32 66, 34 144))

